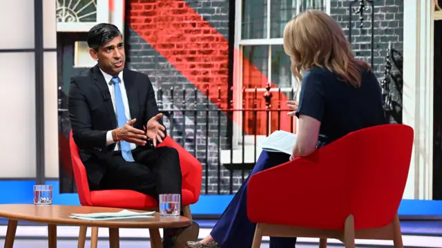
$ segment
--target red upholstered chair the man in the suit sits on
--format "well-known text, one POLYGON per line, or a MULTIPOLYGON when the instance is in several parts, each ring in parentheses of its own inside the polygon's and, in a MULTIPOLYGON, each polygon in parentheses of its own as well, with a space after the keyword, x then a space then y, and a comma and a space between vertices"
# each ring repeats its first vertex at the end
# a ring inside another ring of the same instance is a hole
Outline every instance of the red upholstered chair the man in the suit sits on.
MULTIPOLYGON (((100 190, 90 191, 86 169, 79 157, 79 149, 70 131, 70 155, 72 158, 75 183, 79 200, 82 206, 92 207, 116 207, 122 209, 143 209, 157 210, 157 199, 151 196, 131 190, 100 190)), ((182 172, 182 205, 184 216, 192 220, 191 204, 198 202, 200 198, 202 182, 202 165, 186 149, 177 144, 171 137, 166 136, 159 146, 170 146, 177 149, 180 154, 180 165, 182 172)), ((80 227, 79 246, 84 247, 87 227, 80 227)), ((90 247, 96 248, 98 241, 98 227, 92 228, 90 247)))

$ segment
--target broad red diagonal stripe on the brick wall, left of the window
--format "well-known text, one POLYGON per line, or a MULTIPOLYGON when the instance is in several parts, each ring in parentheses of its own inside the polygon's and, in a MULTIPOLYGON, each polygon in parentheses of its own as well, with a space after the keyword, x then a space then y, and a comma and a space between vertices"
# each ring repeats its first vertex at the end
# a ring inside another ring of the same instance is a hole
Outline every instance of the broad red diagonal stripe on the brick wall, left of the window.
MULTIPOLYGON (((220 10, 213 7, 211 1, 200 2, 206 8, 220 10)), ((228 21, 228 16, 225 17, 228 21)), ((131 28, 189 82, 202 92, 209 88, 213 102, 218 103, 219 87, 222 95, 227 96, 229 41, 186 1, 133 0, 130 23, 131 28)), ((227 97, 222 97, 222 107, 226 104, 227 97)))

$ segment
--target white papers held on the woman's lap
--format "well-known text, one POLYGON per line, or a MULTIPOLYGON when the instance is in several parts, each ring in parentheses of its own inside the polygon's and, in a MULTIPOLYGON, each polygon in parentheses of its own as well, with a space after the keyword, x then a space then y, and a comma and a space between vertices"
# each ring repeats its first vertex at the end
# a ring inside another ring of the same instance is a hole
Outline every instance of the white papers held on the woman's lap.
POLYGON ((271 133, 271 135, 263 140, 259 146, 265 151, 281 152, 291 155, 295 143, 296 134, 278 130, 271 133))

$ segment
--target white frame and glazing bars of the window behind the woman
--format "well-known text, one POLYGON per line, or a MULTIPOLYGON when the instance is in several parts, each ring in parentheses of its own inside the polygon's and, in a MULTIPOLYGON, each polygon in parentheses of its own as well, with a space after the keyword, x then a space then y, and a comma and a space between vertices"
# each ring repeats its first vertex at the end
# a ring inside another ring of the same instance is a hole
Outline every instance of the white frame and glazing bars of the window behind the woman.
MULTIPOLYGON (((240 109, 242 108, 242 52, 244 49, 244 46, 251 46, 251 45, 282 45, 283 41, 282 38, 269 38, 270 32, 271 32, 271 0, 267 0, 267 38, 265 39, 241 39, 242 34, 242 0, 236 0, 235 1, 235 48, 236 50, 240 51, 240 53, 235 53, 233 58, 233 108, 240 109)), ((296 10, 299 12, 300 6, 298 4, 296 10)), ((329 14, 330 13, 330 0, 325 1, 325 10, 329 14)), ((267 75, 268 80, 271 80, 271 46, 269 48, 269 75, 267 75)), ((292 87, 296 86, 296 79, 291 76, 291 82, 292 87)), ((281 88, 281 92, 287 92, 290 91, 292 88, 281 88)), ((253 90, 254 89, 250 89, 253 90)), ((263 91, 265 88, 258 88, 258 91, 263 91)), ((246 92, 249 91, 246 89, 246 92)), ((272 88, 270 90, 271 92, 278 92, 278 88, 272 88)), ((299 88, 296 89, 296 93, 299 92, 299 88)), ((298 97, 298 94, 295 95, 295 97, 298 97)), ((242 147, 242 113, 235 111, 233 113, 233 148, 238 149, 239 147, 242 147)), ((296 119, 296 126, 298 126, 298 120, 296 119)), ((246 135, 245 137, 245 143, 247 144, 248 140, 254 141, 254 135, 246 135), (250 137, 251 136, 251 137, 250 137)), ((258 136, 264 136, 264 135, 258 135, 258 136)), ((258 140, 260 140, 262 137, 258 137, 258 140)))

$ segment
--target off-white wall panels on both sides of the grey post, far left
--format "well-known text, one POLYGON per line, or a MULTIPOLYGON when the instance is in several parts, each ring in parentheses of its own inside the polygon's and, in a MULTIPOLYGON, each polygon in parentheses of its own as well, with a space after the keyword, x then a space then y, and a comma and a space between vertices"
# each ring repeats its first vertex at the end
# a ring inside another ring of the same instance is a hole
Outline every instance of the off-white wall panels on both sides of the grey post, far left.
MULTIPOLYGON (((56 1, 42 1, 44 22, 44 158, 47 178, 58 177, 56 1)), ((0 1, 0 178, 35 178, 34 1, 0 1), (7 10, 7 11, 6 11, 7 10), (11 21, 14 20, 14 21, 11 21)))

